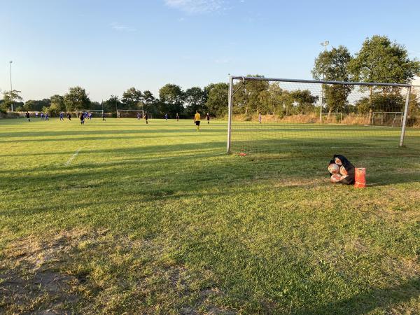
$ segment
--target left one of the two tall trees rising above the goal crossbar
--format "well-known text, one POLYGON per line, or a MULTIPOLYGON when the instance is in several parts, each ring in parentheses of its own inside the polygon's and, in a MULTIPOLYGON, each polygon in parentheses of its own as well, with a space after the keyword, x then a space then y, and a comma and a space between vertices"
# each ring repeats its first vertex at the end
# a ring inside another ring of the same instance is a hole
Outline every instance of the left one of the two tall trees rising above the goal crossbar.
MULTIPOLYGON (((323 51, 315 59, 312 76, 316 80, 349 81, 352 79, 349 71, 351 60, 349 50, 342 45, 323 51)), ((322 88, 328 112, 331 113, 342 111, 347 106, 347 97, 353 86, 323 84, 322 88)))

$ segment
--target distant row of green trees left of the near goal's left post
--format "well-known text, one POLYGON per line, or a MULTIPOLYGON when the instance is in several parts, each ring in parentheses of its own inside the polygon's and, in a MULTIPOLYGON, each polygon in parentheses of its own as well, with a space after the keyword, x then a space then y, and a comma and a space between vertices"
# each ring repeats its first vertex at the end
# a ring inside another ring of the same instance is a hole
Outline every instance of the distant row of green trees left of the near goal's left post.
POLYGON ((182 90, 179 85, 167 84, 160 88, 159 97, 149 90, 137 90, 130 87, 123 92, 122 97, 111 95, 103 102, 90 100, 83 87, 70 87, 64 95, 55 94, 48 99, 21 102, 19 91, 3 92, 1 109, 6 111, 14 104, 16 111, 43 111, 50 115, 60 112, 80 110, 104 110, 106 113, 116 113, 118 109, 143 109, 153 116, 175 118, 193 116, 195 111, 210 113, 211 116, 223 116, 228 107, 228 83, 212 83, 207 87, 190 87, 182 90))

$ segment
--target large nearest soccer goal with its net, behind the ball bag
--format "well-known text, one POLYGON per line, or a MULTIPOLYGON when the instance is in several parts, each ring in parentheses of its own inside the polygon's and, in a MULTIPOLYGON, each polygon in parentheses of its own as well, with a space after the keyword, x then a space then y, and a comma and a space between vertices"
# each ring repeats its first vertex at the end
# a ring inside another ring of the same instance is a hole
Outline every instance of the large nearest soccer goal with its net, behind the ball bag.
POLYGON ((404 145, 409 84, 251 76, 229 82, 228 153, 404 145))

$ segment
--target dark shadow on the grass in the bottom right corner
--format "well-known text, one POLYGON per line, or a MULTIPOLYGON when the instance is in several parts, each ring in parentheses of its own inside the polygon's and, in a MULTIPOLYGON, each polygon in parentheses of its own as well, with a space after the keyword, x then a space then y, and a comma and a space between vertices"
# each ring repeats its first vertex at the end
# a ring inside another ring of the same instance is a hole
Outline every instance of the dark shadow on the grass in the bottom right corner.
MULTIPOLYGON (((318 307, 295 309, 293 314, 367 314, 374 309, 388 310, 412 298, 419 299, 420 278, 409 279, 397 286, 369 290, 349 299, 329 302, 318 307)), ((417 311, 419 311, 417 309, 417 311)), ((408 314, 408 313, 407 313, 408 314)), ((413 313, 414 314, 414 313, 413 313)))

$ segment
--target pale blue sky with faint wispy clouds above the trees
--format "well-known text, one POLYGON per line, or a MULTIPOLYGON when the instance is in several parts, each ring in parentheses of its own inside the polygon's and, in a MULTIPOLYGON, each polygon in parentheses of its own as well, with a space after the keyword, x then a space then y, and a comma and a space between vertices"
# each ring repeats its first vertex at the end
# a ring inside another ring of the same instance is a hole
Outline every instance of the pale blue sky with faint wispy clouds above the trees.
POLYGON ((0 0, 0 89, 10 60, 25 101, 80 85, 101 102, 229 73, 307 79, 321 42, 355 53, 374 34, 420 59, 419 12, 412 0, 0 0))

